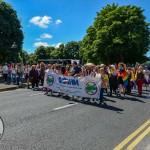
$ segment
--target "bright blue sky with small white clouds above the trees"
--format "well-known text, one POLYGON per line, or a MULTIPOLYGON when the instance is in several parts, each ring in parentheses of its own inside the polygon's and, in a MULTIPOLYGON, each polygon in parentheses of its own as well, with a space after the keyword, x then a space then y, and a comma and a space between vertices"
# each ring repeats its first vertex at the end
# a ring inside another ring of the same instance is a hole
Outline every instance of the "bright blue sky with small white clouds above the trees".
MULTIPOLYGON (((96 12, 107 4, 136 5, 144 9, 150 22, 150 0, 4 0, 22 20, 25 35, 23 49, 28 53, 40 45, 80 41, 93 24, 96 12)), ((150 53, 149 53, 150 54, 150 53)), ((148 55, 149 55, 148 54, 148 55)))

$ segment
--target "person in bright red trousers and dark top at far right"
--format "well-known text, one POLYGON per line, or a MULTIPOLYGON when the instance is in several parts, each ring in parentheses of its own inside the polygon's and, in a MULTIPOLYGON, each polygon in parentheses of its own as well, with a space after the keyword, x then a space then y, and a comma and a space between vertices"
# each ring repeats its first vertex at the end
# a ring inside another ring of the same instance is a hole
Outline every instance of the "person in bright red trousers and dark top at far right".
POLYGON ((143 81, 144 81, 143 67, 139 66, 138 71, 136 73, 136 83, 138 87, 139 96, 142 96, 143 81))

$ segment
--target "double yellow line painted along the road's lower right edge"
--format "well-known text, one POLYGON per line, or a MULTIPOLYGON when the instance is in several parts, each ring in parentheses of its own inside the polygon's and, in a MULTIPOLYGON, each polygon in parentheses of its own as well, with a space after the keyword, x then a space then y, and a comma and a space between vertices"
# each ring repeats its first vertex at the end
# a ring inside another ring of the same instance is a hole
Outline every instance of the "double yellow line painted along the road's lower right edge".
POLYGON ((150 133, 150 119, 140 126, 136 131, 130 134, 125 140, 123 140, 114 150, 122 150, 133 138, 135 138, 140 132, 142 133, 127 147, 127 150, 133 150, 137 144, 150 133), (143 131, 144 130, 144 131, 143 131))

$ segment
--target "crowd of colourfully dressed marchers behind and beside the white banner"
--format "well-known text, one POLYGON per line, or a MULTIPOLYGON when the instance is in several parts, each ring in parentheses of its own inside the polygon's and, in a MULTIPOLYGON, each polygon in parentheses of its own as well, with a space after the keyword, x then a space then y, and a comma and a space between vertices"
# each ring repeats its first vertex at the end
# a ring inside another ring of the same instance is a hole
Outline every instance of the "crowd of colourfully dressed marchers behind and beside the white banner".
MULTIPOLYGON (((23 65, 23 64, 7 64, 0 66, 0 72, 3 74, 4 82, 10 84, 21 84, 25 78, 27 88, 43 86, 46 72, 57 73, 63 76, 85 77, 101 79, 100 103, 104 102, 103 93, 109 96, 116 94, 119 97, 125 94, 131 94, 131 91, 137 89, 139 96, 142 96, 142 86, 145 84, 146 90, 150 84, 150 70, 148 67, 135 65, 127 67, 124 63, 118 65, 94 65, 88 63, 85 65, 73 64, 44 64, 39 65, 23 65), (109 91, 108 91, 109 89, 109 91)), ((44 87, 43 87, 44 89, 44 87)))

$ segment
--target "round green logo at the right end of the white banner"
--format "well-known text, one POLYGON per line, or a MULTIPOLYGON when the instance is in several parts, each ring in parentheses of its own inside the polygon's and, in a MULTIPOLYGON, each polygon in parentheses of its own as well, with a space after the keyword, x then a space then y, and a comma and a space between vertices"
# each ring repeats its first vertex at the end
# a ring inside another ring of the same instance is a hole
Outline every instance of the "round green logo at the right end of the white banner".
POLYGON ((94 95, 97 93, 97 85, 94 82, 88 82, 85 86, 85 91, 89 95, 94 95))

